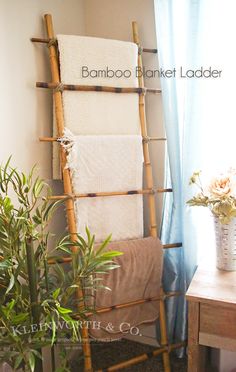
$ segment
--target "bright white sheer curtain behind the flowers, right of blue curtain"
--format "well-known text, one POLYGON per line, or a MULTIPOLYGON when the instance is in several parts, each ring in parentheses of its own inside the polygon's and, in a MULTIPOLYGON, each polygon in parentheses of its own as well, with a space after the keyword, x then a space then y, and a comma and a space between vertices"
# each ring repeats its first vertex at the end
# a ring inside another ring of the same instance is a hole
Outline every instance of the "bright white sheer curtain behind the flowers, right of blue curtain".
MULTIPOLYGON (((222 71, 219 78, 187 83, 184 121, 190 128, 188 135, 194 135, 191 127, 197 129, 196 167, 202 170, 207 181, 215 173, 236 166, 236 1, 198 2, 201 6, 197 64, 222 71)), ((210 263, 215 254, 212 217, 208 210, 195 208, 193 218, 198 261, 210 263)))

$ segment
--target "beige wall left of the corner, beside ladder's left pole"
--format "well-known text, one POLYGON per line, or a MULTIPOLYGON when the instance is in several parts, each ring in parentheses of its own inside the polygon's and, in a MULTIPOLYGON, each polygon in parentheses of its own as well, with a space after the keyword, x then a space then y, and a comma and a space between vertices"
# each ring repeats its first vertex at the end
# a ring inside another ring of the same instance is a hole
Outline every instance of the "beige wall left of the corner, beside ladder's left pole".
POLYGON ((36 80, 49 80, 47 48, 30 42, 44 36, 44 13, 52 13, 55 31, 84 33, 83 0, 0 0, 0 159, 10 154, 24 170, 38 163, 51 177, 50 145, 39 136, 51 134, 50 93, 36 90, 36 80))

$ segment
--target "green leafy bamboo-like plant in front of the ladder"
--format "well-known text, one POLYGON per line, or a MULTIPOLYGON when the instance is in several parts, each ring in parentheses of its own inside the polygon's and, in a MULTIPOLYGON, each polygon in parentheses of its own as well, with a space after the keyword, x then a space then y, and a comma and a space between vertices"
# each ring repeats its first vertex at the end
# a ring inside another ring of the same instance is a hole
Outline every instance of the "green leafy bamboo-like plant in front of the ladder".
MULTIPOLYGON (((102 286, 97 274, 116 269, 113 258, 122 254, 106 251, 110 236, 95 248, 88 229, 87 239, 78 234, 76 241, 55 242, 49 223, 61 202, 50 196, 34 169, 20 173, 10 159, 0 167, 0 363, 14 370, 42 371, 47 345, 55 368, 53 346, 81 339, 78 319, 95 311, 93 293, 102 286), (70 268, 61 265, 62 254, 70 268)), ((60 371, 69 371, 65 360, 62 365, 60 371)))

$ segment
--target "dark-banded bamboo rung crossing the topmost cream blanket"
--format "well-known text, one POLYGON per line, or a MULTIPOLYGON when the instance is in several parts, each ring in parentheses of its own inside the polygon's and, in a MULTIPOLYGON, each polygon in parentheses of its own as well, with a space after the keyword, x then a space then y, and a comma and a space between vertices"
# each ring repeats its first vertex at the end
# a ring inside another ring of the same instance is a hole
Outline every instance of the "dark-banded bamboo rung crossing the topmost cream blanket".
POLYGON ((103 85, 77 85, 77 84, 61 84, 61 83, 46 83, 38 81, 36 88, 55 89, 59 91, 72 90, 76 92, 105 92, 105 93, 161 93, 161 89, 154 88, 121 88, 121 87, 109 87, 103 85))

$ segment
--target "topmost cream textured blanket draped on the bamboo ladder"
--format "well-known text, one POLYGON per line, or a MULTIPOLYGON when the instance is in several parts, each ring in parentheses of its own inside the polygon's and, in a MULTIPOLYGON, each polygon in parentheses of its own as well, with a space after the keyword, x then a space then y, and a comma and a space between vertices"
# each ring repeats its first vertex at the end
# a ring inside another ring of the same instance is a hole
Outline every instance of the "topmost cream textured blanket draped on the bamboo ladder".
MULTIPOLYGON (((138 48, 131 42, 58 35, 61 81, 64 84, 138 87, 138 48), (89 70, 129 70, 130 78, 83 78, 89 70)), ((63 92, 65 126, 74 134, 140 134, 138 94, 63 92)))

